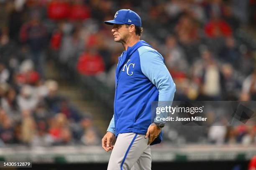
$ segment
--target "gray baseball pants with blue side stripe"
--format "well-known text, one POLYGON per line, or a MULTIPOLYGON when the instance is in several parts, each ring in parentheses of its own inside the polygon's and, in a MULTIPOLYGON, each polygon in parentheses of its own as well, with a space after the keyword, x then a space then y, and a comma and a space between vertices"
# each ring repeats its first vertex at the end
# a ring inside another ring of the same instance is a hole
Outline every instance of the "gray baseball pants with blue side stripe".
POLYGON ((108 170, 151 170, 148 138, 136 133, 120 133, 112 150, 108 170))

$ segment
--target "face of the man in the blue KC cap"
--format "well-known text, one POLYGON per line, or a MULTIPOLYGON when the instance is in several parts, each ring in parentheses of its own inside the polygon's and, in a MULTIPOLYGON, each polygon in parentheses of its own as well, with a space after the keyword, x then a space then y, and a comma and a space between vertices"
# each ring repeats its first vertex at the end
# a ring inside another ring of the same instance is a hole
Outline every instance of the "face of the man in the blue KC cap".
POLYGON ((112 28, 112 32, 114 35, 115 42, 125 41, 129 35, 129 27, 126 28, 125 24, 114 24, 112 28))

